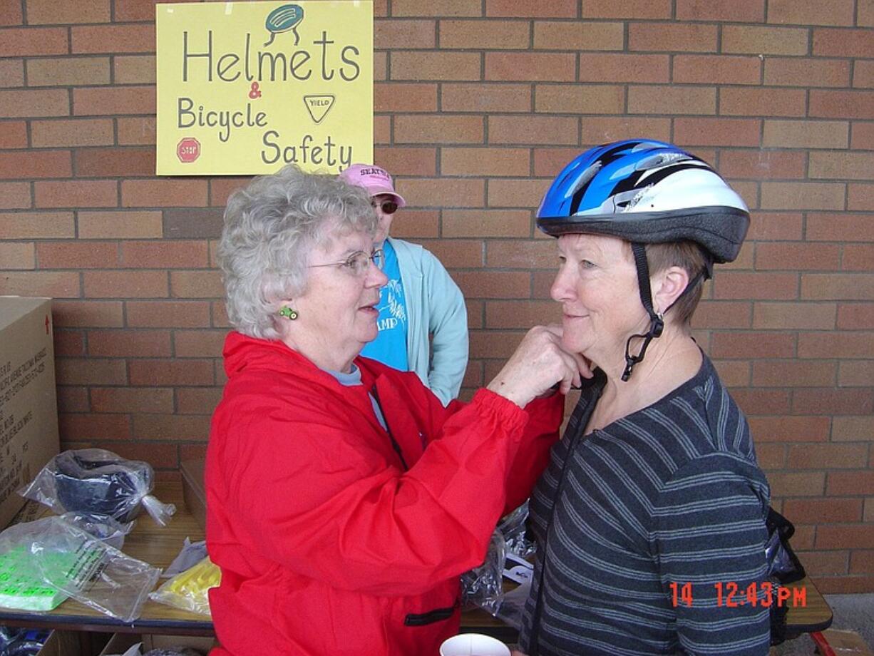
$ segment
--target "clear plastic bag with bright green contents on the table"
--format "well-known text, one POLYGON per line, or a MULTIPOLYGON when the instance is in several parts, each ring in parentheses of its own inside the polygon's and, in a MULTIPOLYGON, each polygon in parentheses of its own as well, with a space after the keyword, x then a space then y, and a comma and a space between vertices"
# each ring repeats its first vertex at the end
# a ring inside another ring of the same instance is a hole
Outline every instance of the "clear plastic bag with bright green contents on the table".
POLYGON ((35 582, 31 587, 37 589, 34 592, 19 586, 2 598, 3 605, 51 610, 66 597, 73 597, 123 622, 140 616, 142 604, 161 573, 60 517, 16 524, 3 531, 2 562, 11 564, 13 573, 30 578, 35 582))

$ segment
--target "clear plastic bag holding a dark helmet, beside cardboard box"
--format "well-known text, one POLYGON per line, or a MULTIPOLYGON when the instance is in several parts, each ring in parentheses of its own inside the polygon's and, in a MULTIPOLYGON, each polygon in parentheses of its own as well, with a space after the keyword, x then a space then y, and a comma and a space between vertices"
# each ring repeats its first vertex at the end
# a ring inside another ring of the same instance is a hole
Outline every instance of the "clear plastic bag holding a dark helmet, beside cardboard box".
POLYGON ((176 506, 149 494, 154 478, 151 465, 140 460, 104 449, 68 450, 53 457, 18 493, 58 514, 95 513, 120 522, 133 520, 144 507, 159 525, 167 526, 176 506))

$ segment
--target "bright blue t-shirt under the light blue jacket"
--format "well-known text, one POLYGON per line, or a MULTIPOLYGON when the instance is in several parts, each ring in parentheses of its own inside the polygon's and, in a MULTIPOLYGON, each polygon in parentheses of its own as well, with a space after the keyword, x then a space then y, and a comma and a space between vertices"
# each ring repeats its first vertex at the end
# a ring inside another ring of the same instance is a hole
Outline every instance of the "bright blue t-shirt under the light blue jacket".
POLYGON ((376 339, 364 345, 361 354, 365 358, 376 359, 385 365, 406 371, 406 297, 404 285, 400 282, 398 254, 387 240, 383 244, 383 257, 383 272, 388 276, 388 283, 379 290, 379 332, 376 339))

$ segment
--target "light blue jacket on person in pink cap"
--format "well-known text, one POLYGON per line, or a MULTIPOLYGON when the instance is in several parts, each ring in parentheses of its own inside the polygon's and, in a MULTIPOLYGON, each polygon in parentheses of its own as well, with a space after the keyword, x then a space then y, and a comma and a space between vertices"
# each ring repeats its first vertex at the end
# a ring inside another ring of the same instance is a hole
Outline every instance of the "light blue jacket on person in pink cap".
POLYGON ((468 367, 464 297, 431 251, 393 237, 388 241, 398 254, 406 298, 407 366, 447 405, 458 396, 468 367))

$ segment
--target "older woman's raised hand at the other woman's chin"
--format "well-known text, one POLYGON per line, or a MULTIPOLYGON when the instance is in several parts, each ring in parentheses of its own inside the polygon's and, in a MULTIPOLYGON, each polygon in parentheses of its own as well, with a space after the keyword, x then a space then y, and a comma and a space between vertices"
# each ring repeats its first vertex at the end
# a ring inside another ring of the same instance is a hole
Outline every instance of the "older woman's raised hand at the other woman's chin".
POLYGON ((562 394, 579 387, 582 377, 592 378, 589 363, 561 344, 560 325, 538 325, 522 339, 507 364, 488 388, 524 408, 558 384, 562 394))

